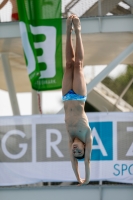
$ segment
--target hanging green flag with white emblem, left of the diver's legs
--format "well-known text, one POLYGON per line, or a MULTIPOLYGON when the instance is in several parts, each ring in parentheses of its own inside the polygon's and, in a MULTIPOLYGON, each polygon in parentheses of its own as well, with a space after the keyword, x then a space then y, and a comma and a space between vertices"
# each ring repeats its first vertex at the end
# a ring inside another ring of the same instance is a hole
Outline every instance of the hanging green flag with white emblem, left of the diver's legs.
POLYGON ((61 0, 17 0, 20 31, 32 88, 62 86, 61 0))

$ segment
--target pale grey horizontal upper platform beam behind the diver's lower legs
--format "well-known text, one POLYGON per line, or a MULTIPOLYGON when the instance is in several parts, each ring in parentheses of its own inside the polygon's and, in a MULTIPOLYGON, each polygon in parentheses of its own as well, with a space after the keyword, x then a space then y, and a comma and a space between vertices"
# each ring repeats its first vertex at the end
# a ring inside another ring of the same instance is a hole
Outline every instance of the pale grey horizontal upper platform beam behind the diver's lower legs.
MULTIPOLYGON (((81 18, 81 25, 82 34, 133 32, 133 15, 81 18)), ((66 34, 66 19, 62 19, 62 34, 66 34)), ((20 37, 19 22, 0 23, 0 38, 16 37, 20 37)))

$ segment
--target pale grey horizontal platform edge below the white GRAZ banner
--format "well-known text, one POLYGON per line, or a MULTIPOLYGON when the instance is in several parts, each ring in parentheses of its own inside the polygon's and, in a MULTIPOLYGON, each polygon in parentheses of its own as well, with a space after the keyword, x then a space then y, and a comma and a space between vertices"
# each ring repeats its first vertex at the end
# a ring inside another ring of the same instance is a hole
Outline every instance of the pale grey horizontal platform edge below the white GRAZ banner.
POLYGON ((0 196, 3 200, 38 200, 39 199, 58 199, 58 200, 132 200, 132 185, 87 185, 77 186, 52 186, 52 187, 17 187, 0 189, 0 196))

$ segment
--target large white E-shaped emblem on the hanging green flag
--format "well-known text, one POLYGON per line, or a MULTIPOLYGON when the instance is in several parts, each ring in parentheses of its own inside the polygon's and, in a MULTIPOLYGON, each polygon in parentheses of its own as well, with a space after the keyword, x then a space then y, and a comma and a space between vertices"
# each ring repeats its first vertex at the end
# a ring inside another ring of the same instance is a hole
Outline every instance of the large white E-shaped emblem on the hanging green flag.
POLYGON ((46 37, 45 41, 34 43, 36 49, 43 50, 43 54, 37 57, 38 63, 45 63, 47 66, 45 70, 40 71, 41 76, 39 79, 52 78, 56 74, 56 29, 50 26, 30 26, 30 28, 34 35, 43 34, 46 37))

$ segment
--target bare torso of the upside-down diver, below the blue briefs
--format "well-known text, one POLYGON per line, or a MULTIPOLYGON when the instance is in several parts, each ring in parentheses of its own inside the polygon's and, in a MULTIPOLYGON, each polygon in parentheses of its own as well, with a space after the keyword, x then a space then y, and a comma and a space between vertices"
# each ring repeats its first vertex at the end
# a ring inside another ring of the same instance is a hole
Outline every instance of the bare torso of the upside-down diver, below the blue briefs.
POLYGON ((90 137, 90 128, 88 118, 84 112, 84 102, 65 101, 65 123, 70 140, 79 138, 86 143, 87 137, 90 137))

